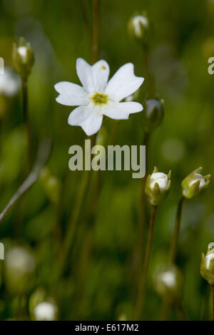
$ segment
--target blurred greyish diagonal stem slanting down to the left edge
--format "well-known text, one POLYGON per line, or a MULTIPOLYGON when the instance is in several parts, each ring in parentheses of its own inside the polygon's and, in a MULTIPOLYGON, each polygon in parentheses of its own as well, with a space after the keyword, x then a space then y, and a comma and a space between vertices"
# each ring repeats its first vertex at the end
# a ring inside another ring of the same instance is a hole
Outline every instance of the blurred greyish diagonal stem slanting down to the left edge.
POLYGON ((11 200, 9 200, 6 207, 4 207, 4 210, 0 214, 0 223, 6 216, 6 214, 11 210, 11 207, 15 205, 15 203, 19 200, 19 198, 24 195, 24 193, 29 190, 29 188, 34 185, 36 180, 39 178, 39 174, 41 171, 41 168, 44 167, 46 164, 47 159, 49 158, 51 149, 51 143, 49 140, 44 140, 43 143, 41 143, 41 146, 39 147, 38 157, 36 160, 36 164, 34 165, 33 170, 29 174, 29 176, 24 180, 24 182, 21 184, 19 189, 16 191, 16 193, 11 197, 11 200))

